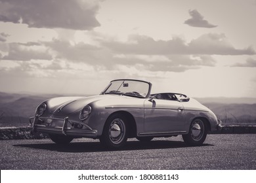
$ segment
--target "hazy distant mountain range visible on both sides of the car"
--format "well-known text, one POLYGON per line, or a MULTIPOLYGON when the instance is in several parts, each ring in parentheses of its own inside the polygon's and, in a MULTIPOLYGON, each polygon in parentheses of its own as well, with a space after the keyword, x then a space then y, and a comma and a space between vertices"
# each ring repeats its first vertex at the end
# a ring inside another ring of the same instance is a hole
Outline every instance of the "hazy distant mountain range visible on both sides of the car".
MULTIPOLYGON (((0 127, 28 125, 35 108, 52 97, 63 95, 31 95, 0 92, 0 127)), ((213 110, 224 124, 256 124, 256 98, 196 98, 213 110)))

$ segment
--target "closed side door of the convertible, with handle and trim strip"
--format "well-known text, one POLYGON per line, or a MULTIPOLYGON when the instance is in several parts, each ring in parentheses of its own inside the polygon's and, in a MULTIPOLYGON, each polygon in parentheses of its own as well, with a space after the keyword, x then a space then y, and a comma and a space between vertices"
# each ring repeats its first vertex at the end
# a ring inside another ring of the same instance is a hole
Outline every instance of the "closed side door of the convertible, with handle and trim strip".
POLYGON ((144 132, 184 131, 184 107, 165 99, 144 101, 144 132))

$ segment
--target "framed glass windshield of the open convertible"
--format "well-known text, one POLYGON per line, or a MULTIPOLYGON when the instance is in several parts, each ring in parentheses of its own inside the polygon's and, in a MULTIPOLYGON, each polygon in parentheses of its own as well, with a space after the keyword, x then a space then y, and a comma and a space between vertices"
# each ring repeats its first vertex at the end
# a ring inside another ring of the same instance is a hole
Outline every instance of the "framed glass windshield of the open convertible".
POLYGON ((150 83, 140 80, 114 80, 102 94, 128 95, 146 98, 150 94, 150 83))

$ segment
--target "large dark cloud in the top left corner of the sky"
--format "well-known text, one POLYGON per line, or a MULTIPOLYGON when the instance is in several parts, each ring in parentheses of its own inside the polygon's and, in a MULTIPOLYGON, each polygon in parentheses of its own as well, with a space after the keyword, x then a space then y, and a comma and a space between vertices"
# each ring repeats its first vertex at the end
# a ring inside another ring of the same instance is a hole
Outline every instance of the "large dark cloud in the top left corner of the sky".
POLYGON ((0 0, 0 21, 28 24, 29 27, 38 28, 90 30, 100 25, 95 18, 98 3, 92 2, 0 0))

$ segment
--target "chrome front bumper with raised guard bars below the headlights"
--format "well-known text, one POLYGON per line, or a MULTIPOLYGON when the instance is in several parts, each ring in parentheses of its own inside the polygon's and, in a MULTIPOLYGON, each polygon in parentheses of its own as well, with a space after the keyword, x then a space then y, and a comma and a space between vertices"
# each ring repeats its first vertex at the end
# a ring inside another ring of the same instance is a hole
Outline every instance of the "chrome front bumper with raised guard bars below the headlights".
POLYGON ((58 134, 58 135, 70 135, 70 136, 77 136, 77 137, 97 137, 97 130, 91 129, 89 125, 83 124, 82 122, 74 122, 68 120, 66 118, 45 118, 35 116, 30 118, 30 127, 32 128, 33 132, 42 132, 42 133, 51 133, 51 134, 58 134), (62 126, 58 127, 51 127, 45 124, 40 124, 43 120, 58 120, 63 121, 62 126), (68 127, 68 123, 70 124, 81 124, 86 127, 86 129, 75 129, 72 127, 68 127))

